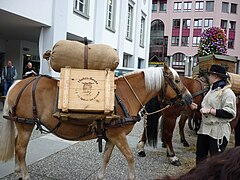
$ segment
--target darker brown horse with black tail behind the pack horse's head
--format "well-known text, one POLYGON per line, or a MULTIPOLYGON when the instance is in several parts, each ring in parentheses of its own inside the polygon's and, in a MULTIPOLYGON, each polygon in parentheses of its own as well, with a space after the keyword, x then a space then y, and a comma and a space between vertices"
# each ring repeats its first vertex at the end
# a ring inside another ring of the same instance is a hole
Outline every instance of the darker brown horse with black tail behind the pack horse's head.
MULTIPOLYGON (((193 96, 193 101, 201 106, 201 102, 204 97, 204 93, 208 91, 208 87, 205 87, 205 83, 200 79, 193 79, 189 77, 180 77, 183 84, 188 88, 193 96)), ((157 147, 158 142, 158 122, 161 117, 161 140, 166 145, 167 157, 172 165, 180 166, 181 162, 179 158, 175 155, 172 137, 173 131, 176 124, 176 119, 180 117, 179 121, 179 131, 181 142, 184 146, 189 146, 188 142, 184 137, 184 126, 186 120, 189 118, 201 119, 200 112, 192 111, 189 106, 182 106, 179 103, 173 103, 172 106, 166 108, 162 112, 158 112, 158 109, 163 109, 166 106, 166 101, 162 101, 160 96, 154 97, 150 102, 146 104, 146 109, 148 112, 152 112, 151 115, 147 116, 147 125, 141 136, 140 141, 137 144, 138 155, 140 157, 146 156, 144 146, 146 142, 152 147, 157 147), (157 113, 154 113, 157 112, 157 113)))

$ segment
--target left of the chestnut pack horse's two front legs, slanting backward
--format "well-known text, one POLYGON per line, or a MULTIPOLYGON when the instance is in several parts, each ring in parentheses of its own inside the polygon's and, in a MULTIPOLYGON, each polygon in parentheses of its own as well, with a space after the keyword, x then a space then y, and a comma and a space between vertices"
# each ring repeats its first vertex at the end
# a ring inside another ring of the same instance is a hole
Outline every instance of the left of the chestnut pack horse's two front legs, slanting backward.
POLYGON ((103 164, 98 172, 98 179, 104 178, 108 162, 112 155, 113 148, 114 148, 114 144, 111 141, 107 140, 104 148, 104 153, 103 153, 103 164))

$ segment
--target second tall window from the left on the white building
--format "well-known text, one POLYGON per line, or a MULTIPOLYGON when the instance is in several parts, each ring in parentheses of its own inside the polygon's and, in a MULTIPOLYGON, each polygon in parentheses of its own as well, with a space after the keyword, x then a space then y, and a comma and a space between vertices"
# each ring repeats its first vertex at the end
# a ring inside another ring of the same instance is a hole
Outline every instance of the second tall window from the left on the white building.
POLYGON ((108 0, 106 27, 115 31, 115 0, 108 0))

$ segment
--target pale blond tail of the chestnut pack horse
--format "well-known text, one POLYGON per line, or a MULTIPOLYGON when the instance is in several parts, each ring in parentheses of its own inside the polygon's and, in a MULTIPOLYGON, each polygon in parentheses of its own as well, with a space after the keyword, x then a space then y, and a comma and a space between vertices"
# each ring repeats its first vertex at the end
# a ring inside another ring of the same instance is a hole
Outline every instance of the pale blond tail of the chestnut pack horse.
MULTIPOLYGON (((15 82, 9 89, 4 107, 3 116, 8 116, 12 108, 9 105, 8 97, 11 89, 18 83, 15 82)), ((0 161, 6 162, 13 158, 15 148, 15 126, 12 120, 3 120, 2 130, 0 133, 0 161)))

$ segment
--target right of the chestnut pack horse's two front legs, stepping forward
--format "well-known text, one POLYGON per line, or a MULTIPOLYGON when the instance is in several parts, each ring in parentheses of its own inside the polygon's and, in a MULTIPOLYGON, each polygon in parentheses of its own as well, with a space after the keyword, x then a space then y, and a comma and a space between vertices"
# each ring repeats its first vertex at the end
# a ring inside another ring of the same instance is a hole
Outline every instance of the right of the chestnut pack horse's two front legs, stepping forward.
POLYGON ((127 163, 128 163, 127 179, 129 180, 135 179, 134 155, 128 145, 125 132, 119 133, 117 137, 115 136, 111 140, 118 147, 118 149, 121 151, 121 153, 125 156, 127 160, 127 163))

